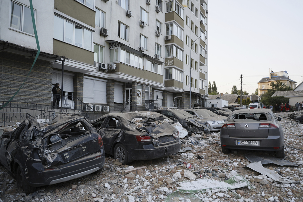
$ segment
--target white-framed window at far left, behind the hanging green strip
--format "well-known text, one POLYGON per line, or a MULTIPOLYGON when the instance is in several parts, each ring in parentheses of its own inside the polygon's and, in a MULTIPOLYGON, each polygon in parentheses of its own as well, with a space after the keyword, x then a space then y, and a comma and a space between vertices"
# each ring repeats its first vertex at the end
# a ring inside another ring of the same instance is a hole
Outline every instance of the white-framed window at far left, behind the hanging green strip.
MULTIPOLYGON (((31 8, 11 2, 10 27, 34 35, 31 8)), ((36 10, 34 10, 36 20, 36 10)))

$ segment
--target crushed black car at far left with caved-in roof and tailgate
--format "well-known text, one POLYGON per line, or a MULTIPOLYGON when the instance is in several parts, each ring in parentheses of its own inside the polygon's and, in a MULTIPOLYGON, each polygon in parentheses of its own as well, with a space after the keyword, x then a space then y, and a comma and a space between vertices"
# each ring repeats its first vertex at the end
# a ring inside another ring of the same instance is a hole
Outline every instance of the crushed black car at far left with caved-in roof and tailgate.
POLYGON ((0 162, 26 194, 91 174, 104 161, 101 136, 79 115, 59 114, 47 124, 28 118, 0 136, 0 162))

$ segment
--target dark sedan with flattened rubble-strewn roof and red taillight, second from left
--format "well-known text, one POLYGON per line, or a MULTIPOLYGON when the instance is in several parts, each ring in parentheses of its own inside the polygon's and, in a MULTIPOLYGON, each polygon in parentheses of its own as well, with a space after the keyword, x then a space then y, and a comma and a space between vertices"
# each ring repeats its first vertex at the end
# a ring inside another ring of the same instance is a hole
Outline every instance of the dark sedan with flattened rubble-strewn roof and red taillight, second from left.
POLYGON ((110 113, 92 125, 102 137, 105 153, 122 164, 165 157, 181 149, 177 129, 144 114, 110 113))

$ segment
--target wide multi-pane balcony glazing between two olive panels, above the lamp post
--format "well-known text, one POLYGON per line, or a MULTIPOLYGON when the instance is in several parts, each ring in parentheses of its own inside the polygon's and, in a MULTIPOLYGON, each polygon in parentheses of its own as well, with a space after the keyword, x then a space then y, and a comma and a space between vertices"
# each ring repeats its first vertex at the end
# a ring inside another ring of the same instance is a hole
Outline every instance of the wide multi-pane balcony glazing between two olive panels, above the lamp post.
POLYGON ((58 16, 54 17, 54 38, 87 50, 92 50, 92 31, 58 16))

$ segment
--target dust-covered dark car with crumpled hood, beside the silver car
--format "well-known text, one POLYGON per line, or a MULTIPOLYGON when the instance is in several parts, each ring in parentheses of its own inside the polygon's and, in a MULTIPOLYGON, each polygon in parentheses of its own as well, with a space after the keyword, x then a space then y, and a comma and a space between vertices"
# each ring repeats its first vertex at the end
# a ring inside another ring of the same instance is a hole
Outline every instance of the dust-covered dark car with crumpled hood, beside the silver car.
POLYGON ((160 114, 165 115, 166 117, 170 118, 172 121, 179 121, 179 123, 184 127, 188 134, 192 133, 205 133, 210 134, 210 129, 206 126, 206 121, 203 121, 197 117, 194 117, 192 114, 184 110, 172 110, 172 109, 156 109, 152 110, 158 112, 160 114))

